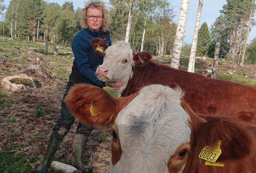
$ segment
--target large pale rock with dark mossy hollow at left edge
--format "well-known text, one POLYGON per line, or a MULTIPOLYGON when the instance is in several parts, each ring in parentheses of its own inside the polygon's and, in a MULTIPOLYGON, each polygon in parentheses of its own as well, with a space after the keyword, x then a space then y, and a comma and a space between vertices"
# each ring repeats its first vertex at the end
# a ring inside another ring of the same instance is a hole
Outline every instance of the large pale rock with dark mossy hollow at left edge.
POLYGON ((1 80, 1 85, 4 89, 17 91, 19 89, 35 88, 35 83, 32 78, 26 74, 5 77, 1 80))

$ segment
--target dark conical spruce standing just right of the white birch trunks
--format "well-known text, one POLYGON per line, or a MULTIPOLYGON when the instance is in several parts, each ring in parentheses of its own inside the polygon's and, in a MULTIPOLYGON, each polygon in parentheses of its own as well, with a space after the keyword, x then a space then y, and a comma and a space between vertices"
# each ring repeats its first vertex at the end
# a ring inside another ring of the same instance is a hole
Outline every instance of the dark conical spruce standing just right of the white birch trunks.
POLYGON ((204 22, 198 30, 196 56, 202 57, 208 53, 210 40, 211 38, 208 25, 204 22))

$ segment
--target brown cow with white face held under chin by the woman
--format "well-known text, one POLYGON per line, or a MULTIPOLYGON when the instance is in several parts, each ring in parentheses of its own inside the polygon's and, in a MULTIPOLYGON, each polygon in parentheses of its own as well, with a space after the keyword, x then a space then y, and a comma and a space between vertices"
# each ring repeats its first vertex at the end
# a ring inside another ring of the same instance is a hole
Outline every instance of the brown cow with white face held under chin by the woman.
POLYGON ((93 39, 94 50, 105 55, 96 74, 99 80, 123 82, 118 96, 127 96, 150 84, 177 85, 185 91, 184 99, 198 115, 222 115, 256 122, 256 86, 171 68, 151 61, 148 52, 132 55, 129 43, 118 41, 108 47, 100 38, 93 39), (101 46, 104 52, 96 50, 101 46))

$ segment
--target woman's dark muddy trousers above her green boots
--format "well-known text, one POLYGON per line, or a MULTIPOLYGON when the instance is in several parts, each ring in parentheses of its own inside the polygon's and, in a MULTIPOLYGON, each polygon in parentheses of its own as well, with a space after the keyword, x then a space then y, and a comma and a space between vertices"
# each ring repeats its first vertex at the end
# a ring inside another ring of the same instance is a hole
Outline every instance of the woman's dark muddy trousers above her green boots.
MULTIPOLYGON (((65 96, 67 95, 68 90, 70 89, 71 86, 75 84, 76 82, 70 79, 67 83, 66 91, 61 103, 61 116, 59 117, 55 126, 52 129, 52 133, 56 138, 63 139, 66 136, 66 134, 69 132, 71 125, 75 122, 76 118, 71 114, 66 103, 63 102, 65 96)), ((83 134, 85 136, 90 136, 93 129, 94 129, 93 127, 86 126, 79 122, 77 126, 76 134, 83 134)))

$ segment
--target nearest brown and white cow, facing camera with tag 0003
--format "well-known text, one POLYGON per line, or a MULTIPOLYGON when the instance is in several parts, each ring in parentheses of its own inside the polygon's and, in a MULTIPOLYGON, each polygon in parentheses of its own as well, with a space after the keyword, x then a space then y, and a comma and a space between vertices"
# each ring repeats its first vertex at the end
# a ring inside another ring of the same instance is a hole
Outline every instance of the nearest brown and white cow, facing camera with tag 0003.
POLYGON ((99 87, 77 84, 65 102, 85 124, 105 129, 114 124, 110 173, 255 173, 255 126, 227 117, 201 118, 182 96, 179 88, 153 84, 114 98, 99 87), (217 161, 224 166, 205 165, 198 155, 219 141, 217 161))

